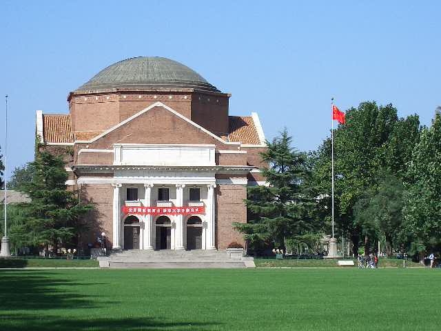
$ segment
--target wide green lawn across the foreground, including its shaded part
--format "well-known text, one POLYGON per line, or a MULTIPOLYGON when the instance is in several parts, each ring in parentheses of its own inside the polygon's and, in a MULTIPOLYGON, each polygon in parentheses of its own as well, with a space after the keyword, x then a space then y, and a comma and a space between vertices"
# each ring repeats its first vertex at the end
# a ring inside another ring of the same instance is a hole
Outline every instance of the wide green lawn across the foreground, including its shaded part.
POLYGON ((0 330, 439 330, 441 270, 0 270, 0 330))

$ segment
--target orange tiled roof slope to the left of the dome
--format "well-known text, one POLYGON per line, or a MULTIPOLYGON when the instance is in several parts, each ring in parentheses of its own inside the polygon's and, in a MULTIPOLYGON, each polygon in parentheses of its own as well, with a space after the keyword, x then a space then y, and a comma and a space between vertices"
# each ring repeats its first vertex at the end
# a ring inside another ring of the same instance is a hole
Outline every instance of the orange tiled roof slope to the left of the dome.
POLYGON ((43 114, 43 139, 46 143, 73 143, 70 116, 43 114))

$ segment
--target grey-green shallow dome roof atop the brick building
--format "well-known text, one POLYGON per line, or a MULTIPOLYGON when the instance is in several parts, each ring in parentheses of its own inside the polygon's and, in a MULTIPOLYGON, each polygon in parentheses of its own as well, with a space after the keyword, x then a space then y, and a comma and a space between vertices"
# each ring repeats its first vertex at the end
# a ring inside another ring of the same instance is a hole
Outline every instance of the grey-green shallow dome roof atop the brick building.
POLYGON ((165 57, 133 57, 101 70, 75 92, 94 92, 123 88, 178 89, 194 88, 220 92, 196 71, 165 57))

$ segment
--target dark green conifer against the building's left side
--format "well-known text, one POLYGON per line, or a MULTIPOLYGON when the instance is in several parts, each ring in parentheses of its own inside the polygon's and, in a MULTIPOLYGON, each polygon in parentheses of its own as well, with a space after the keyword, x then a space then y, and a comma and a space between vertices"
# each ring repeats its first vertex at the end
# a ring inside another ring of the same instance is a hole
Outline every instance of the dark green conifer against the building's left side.
POLYGON ((67 190, 68 173, 63 155, 37 152, 30 167, 34 170, 32 181, 22 188, 31 202, 21 203, 29 241, 46 248, 48 245, 57 248, 59 243, 72 244, 76 233, 86 225, 83 217, 93 206, 81 203, 77 192, 67 190))

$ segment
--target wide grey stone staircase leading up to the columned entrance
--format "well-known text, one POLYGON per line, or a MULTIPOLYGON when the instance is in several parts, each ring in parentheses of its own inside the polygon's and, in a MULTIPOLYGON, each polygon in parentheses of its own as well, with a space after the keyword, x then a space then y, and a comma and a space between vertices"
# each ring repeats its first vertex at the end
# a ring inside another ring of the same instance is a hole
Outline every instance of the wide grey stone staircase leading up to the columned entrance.
POLYGON ((124 250, 98 260, 101 268, 256 268, 252 257, 217 250, 124 250))

